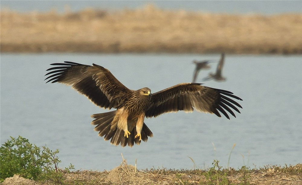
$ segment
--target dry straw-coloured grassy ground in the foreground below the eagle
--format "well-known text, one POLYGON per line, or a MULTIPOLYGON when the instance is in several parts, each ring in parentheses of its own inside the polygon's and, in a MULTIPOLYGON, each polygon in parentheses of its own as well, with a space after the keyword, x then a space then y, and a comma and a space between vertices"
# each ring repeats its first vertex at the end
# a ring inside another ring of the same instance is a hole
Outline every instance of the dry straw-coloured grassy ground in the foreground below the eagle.
MULTIPOLYGON (((135 166, 122 164, 111 171, 76 171, 66 174, 62 184, 251 184, 251 185, 302 185, 302 164, 289 167, 266 166, 260 169, 222 169, 221 174, 213 173, 207 178, 210 170, 175 170, 175 169, 151 169, 137 170, 135 166), (225 181, 223 181, 225 180, 225 181)), ((216 170, 217 171, 217 170, 216 170)), ((2 185, 52 185, 51 181, 38 183, 15 175, 7 178, 2 185)))

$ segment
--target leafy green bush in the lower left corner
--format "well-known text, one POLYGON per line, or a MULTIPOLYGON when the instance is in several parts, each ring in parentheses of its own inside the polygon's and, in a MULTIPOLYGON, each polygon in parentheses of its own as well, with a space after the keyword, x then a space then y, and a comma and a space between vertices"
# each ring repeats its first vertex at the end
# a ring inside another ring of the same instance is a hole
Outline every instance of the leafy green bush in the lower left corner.
POLYGON ((58 149, 52 151, 46 146, 41 149, 21 136, 17 139, 11 137, 11 140, 2 144, 0 148, 0 180, 2 182, 7 177, 19 174, 24 178, 36 181, 61 182, 64 172, 69 172, 74 167, 70 164, 69 168, 65 168, 65 171, 60 170, 58 164, 61 161, 56 156, 58 153, 58 149))

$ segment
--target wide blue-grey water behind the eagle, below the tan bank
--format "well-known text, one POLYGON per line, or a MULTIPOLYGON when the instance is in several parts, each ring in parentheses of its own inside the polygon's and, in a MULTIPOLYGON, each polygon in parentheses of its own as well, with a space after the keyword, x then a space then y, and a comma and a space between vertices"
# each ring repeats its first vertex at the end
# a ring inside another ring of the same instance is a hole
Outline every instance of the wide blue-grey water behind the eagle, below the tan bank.
MULTIPOLYGON (((69 86, 45 84, 50 63, 75 61, 102 65, 130 89, 152 92, 190 82, 192 60, 220 55, 193 54, 1 54, 1 144, 21 135, 37 146, 59 149, 60 167, 111 170, 122 162, 145 168, 211 167, 214 159, 227 167, 301 163, 302 59, 296 56, 226 55, 226 82, 205 86, 230 90, 244 101, 237 118, 167 113, 145 123, 154 137, 133 148, 104 141, 90 125, 100 109, 69 86), (214 146, 215 148, 214 148, 214 146)), ((201 71, 198 81, 207 73, 201 71)))

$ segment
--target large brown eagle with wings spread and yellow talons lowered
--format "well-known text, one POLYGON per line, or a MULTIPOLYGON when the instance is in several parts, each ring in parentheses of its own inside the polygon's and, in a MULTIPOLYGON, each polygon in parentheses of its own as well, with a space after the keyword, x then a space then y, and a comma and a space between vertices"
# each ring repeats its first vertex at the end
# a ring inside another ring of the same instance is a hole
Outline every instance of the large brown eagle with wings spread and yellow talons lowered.
POLYGON ((74 62, 53 63, 45 76, 51 83, 63 83, 88 97, 95 105, 111 112, 94 114, 92 125, 104 140, 111 139, 111 144, 132 147, 141 140, 147 141, 152 132, 144 123, 144 118, 159 116, 166 112, 200 112, 222 113, 230 119, 228 113, 240 113, 242 108, 233 99, 242 100, 232 92, 201 86, 201 83, 180 83, 156 93, 144 87, 131 90, 118 81, 106 68, 92 64, 83 65, 74 62), (231 99, 233 98, 233 99, 231 99), (233 109, 233 110, 232 110, 233 109), (227 113, 228 112, 228 113, 227 113))

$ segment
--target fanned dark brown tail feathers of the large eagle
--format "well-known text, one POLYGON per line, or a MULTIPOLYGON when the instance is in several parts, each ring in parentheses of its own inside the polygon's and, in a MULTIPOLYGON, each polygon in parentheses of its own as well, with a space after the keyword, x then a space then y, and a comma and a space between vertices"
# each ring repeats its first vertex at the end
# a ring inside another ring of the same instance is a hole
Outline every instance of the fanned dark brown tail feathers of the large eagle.
MULTIPOLYGON (((111 139, 111 144, 114 144, 116 146, 120 144, 122 147, 124 147, 128 144, 128 146, 132 147, 134 143, 140 144, 141 141, 138 141, 138 138, 134 138, 134 136, 137 135, 136 127, 134 127, 132 131, 130 131, 129 138, 124 137, 125 132, 123 130, 119 128, 111 129, 111 122, 113 121, 116 113, 117 111, 115 110, 92 115, 91 117, 95 118, 95 120, 93 120, 91 124, 96 125, 94 130, 98 131, 99 136, 104 136, 105 141, 111 139)), ((148 136, 153 137, 152 132, 145 123, 143 124, 141 136, 142 140, 145 142, 148 140, 148 136)))

